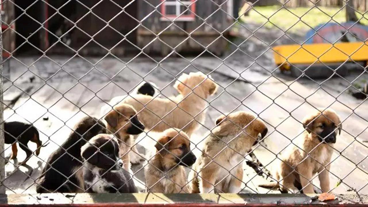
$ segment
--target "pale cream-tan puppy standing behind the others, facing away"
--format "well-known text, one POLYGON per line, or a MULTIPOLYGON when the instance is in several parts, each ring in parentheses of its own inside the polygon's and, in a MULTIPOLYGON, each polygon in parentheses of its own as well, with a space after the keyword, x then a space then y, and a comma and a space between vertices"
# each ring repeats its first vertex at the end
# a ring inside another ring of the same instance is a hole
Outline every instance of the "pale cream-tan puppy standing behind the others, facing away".
MULTIPOLYGON (((210 77, 210 76, 209 76, 210 77)), ((146 131, 162 132, 171 127, 182 129, 190 137, 205 120, 206 98, 217 90, 217 84, 204 73, 183 73, 174 87, 180 93, 176 97, 159 98, 148 95, 131 95, 121 103, 127 103, 138 111, 139 120, 146 131)), ((135 137, 136 138, 136 137, 135 137)), ((135 148, 133 148, 134 151, 135 148)), ((132 153, 132 163, 139 163, 137 153, 132 153)))

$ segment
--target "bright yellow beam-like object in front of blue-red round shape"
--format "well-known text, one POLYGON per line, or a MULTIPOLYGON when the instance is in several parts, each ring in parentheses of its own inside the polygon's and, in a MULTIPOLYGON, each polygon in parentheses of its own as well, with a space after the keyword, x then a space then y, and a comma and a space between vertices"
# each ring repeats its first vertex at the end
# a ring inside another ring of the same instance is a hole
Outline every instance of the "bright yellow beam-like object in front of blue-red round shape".
POLYGON ((275 63, 281 70, 291 64, 339 63, 346 60, 368 61, 368 42, 316 43, 305 45, 279 45, 275 50, 275 63), (349 59, 350 57, 350 59, 349 59))

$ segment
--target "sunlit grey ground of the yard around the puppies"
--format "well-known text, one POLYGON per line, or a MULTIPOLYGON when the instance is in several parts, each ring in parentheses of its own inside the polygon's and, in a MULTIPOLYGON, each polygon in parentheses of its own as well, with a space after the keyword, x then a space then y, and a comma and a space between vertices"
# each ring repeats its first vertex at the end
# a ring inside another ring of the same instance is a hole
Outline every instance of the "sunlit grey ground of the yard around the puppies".
MULTIPOLYGON (((246 38, 247 34, 243 35, 246 38)), ((272 35, 277 36, 277 33, 272 35)), ((331 188, 334 188, 335 193, 368 193, 368 103, 355 99, 349 92, 351 83, 367 80, 368 74, 362 69, 355 69, 343 78, 296 80, 276 69, 272 62, 272 51, 264 42, 255 38, 248 41, 240 49, 251 55, 247 56, 230 46, 226 54, 229 57, 224 62, 212 56, 195 59, 157 58, 157 61, 162 61, 159 65, 145 57, 132 61, 129 61, 130 58, 116 59, 112 56, 103 59, 66 56, 12 59, 12 82, 4 83, 5 103, 11 103, 14 97, 21 94, 21 90, 29 90, 31 96, 22 95, 12 106, 14 110, 4 110, 4 118, 7 121, 25 119, 34 122, 41 133, 41 140, 50 144, 42 148, 39 156, 33 155, 28 166, 17 166, 18 161, 25 157, 23 151, 19 150, 18 160, 6 165, 6 180, 3 183, 7 193, 35 193, 34 180, 40 175, 47 157, 63 143, 81 117, 88 114, 101 118, 100 108, 107 101, 117 95, 125 95, 142 78, 156 83, 162 89, 162 94, 175 95, 174 77, 198 70, 211 73, 220 87, 217 94, 208 99, 210 106, 206 121, 192 138, 194 142, 201 141, 205 133, 212 129, 220 112, 246 110, 258 114, 268 124, 269 133, 263 146, 256 147, 254 154, 272 171, 276 154, 301 131, 300 121, 303 117, 314 112, 315 107, 330 106, 343 120, 343 132, 334 146, 331 188), (31 77, 35 77, 32 83, 31 77), (339 182, 340 179, 342 182, 339 182)), ((288 42, 284 39, 280 41, 288 42)), ((241 39, 234 42, 239 44, 241 39)), ((29 145, 35 149, 35 144, 29 145)), ((143 146, 147 146, 144 141, 138 143, 141 152, 145 151, 143 146)), ((9 155, 10 145, 6 145, 6 148, 5 154, 9 155)), ((137 179, 144 182, 140 170, 142 165, 132 168, 137 173, 137 179)), ((267 182, 264 177, 258 176, 245 162, 243 168, 242 192, 269 192, 257 187, 259 183, 267 182)), ((314 183, 318 185, 317 179, 314 183)))

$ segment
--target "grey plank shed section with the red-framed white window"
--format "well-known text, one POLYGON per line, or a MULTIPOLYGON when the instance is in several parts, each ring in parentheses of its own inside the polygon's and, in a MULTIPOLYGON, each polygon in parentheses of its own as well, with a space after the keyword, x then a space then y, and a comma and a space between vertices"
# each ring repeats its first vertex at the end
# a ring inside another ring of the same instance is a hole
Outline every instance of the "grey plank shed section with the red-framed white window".
POLYGON ((232 1, 151 0, 138 2, 137 42, 147 52, 167 55, 202 52, 221 55, 226 46, 227 28, 233 23, 232 1), (157 11, 155 9, 157 8, 157 11))

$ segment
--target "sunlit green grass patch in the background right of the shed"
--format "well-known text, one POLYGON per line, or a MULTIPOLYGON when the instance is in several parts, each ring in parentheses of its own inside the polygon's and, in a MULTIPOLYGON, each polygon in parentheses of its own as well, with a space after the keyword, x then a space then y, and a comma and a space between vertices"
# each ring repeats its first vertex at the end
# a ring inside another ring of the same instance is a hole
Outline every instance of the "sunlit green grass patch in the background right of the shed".
MULTIPOLYGON (((239 14, 243 14, 240 11, 239 14)), ((362 15, 357 13, 357 17, 362 15)), ((360 21, 368 25, 368 13, 360 21)), ((299 8, 281 8, 279 6, 253 7, 248 16, 241 16, 241 21, 256 24, 266 24, 264 27, 279 27, 283 31, 290 28, 291 32, 306 31, 321 23, 326 22, 345 22, 345 8, 337 7, 299 7, 299 8), (263 16, 262 16, 263 15, 263 16), (272 23, 272 24, 271 24, 272 23), (295 25, 294 25, 295 24, 295 25)))

